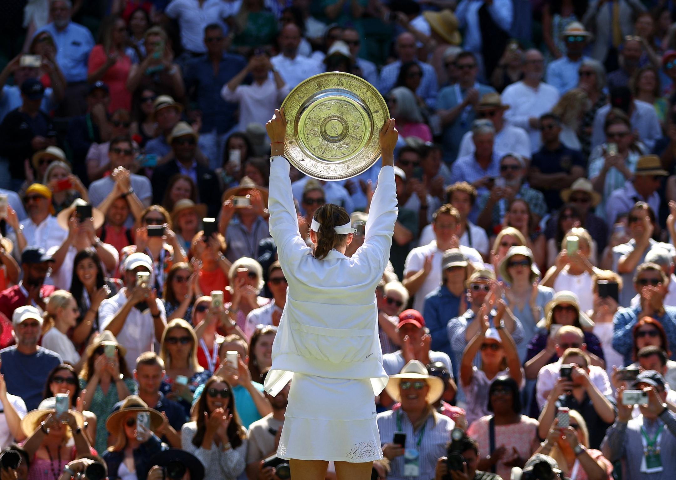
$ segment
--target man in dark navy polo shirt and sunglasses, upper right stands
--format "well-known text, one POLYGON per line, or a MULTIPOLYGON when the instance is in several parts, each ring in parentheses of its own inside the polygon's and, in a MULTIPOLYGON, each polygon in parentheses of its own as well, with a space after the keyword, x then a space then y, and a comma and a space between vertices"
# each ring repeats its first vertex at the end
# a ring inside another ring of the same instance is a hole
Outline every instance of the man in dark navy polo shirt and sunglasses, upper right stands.
POLYGON ((585 159, 579 151, 562 144, 561 120, 553 113, 539 118, 542 148, 533 154, 529 169, 531 187, 540 190, 550 210, 562 205, 560 192, 569 188, 575 180, 585 176, 585 159))

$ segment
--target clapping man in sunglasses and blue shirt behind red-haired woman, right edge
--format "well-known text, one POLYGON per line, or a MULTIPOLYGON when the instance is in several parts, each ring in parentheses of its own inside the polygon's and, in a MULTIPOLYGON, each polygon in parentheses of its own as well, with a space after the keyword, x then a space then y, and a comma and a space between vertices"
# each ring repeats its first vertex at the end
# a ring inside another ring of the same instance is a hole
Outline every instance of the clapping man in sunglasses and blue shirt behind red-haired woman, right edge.
POLYGON ((633 358, 633 327, 643 317, 651 317, 658 321, 667 333, 669 345, 663 346, 671 353, 671 359, 676 360, 673 352, 676 348, 676 306, 664 304, 667 292, 667 275, 656 263, 643 263, 636 270, 633 279, 636 292, 641 295, 640 304, 627 309, 621 309, 613 319, 614 334, 612 348, 624 355, 625 365, 629 365, 633 358))

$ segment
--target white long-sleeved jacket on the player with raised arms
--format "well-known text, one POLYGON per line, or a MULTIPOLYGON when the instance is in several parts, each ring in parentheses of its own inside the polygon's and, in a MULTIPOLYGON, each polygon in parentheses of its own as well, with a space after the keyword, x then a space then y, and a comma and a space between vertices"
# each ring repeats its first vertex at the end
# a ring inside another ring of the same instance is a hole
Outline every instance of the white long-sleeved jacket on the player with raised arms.
POLYGON ((375 289, 389 260, 397 194, 392 167, 383 167, 373 194, 364 244, 352 258, 331 250, 322 260, 298 232, 289 162, 270 164, 270 233, 289 283, 287 302, 272 344, 265 390, 276 395, 293 377, 370 379, 379 394, 387 373, 378 337, 375 289))

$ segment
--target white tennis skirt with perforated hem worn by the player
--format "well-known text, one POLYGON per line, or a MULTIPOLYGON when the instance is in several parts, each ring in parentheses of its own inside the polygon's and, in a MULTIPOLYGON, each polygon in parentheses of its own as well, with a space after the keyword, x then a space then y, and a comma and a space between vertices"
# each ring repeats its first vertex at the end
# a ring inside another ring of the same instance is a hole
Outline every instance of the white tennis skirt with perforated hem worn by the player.
POLYGON ((294 373, 277 456, 353 463, 383 458, 370 380, 294 373))

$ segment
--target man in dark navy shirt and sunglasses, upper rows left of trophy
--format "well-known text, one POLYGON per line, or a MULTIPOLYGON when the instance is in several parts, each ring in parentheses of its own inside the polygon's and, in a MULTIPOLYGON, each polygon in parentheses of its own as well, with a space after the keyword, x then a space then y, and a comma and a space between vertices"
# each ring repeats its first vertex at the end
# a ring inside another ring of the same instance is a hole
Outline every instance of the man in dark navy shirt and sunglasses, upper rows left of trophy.
POLYGON ((209 166, 222 166, 225 140, 237 126, 236 103, 224 101, 220 90, 247 66, 241 55, 225 52, 225 36, 218 24, 204 29, 206 55, 190 59, 185 69, 185 86, 201 111, 199 148, 209 159, 209 166))

